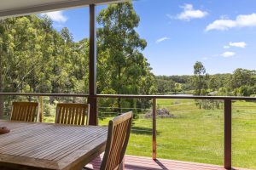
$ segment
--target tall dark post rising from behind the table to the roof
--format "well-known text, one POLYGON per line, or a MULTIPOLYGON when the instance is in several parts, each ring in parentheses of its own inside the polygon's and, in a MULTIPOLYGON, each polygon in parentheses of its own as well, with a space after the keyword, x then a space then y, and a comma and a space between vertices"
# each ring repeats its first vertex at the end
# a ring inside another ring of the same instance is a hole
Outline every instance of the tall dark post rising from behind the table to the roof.
POLYGON ((89 97, 90 125, 97 125, 97 99, 96 95, 96 5, 90 4, 90 45, 89 45, 89 97))

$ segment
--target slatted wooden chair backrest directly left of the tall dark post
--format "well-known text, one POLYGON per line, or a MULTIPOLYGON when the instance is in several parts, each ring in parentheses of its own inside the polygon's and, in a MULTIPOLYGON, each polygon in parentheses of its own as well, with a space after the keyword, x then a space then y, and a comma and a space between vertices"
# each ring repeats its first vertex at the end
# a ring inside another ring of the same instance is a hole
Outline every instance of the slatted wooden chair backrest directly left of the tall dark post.
POLYGON ((57 104, 55 123, 88 125, 89 104, 57 104))

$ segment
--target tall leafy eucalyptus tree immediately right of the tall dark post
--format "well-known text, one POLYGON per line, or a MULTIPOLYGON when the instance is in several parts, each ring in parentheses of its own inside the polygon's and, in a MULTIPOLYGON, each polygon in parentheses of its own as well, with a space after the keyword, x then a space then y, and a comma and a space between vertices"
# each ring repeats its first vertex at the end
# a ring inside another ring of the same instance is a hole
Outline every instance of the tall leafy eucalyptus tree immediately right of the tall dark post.
MULTIPOLYGON (((139 94, 142 79, 148 75, 148 62, 142 54, 147 42, 135 30, 140 18, 132 3, 108 5, 96 20, 100 25, 97 40, 101 44, 98 60, 104 61, 107 69, 108 90, 111 89, 113 94, 139 94)), ((123 100, 125 103, 133 106, 135 101, 123 100)), ((121 99, 118 99, 117 106, 120 111, 121 99)))

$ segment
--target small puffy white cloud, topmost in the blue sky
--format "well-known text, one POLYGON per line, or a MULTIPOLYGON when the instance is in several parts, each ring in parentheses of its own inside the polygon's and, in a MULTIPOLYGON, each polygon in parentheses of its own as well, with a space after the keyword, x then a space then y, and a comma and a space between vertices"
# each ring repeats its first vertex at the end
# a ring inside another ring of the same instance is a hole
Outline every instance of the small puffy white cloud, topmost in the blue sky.
POLYGON ((194 9, 192 4, 184 4, 181 8, 183 8, 183 12, 177 14, 178 20, 192 20, 192 19, 201 19, 207 16, 206 11, 201 11, 199 9, 194 9))

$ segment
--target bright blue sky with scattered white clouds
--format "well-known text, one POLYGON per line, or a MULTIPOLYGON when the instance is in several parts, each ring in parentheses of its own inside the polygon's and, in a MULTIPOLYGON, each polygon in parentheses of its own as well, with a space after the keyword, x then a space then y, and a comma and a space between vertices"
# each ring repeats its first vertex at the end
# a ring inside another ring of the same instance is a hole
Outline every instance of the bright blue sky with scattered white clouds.
MULTIPOLYGON (((137 0, 136 28, 154 75, 192 75, 201 61, 207 73, 256 70, 255 0, 137 0)), ((97 13, 106 6, 97 6, 97 13)), ((75 41, 89 36, 89 8, 47 13, 54 27, 75 41)))

